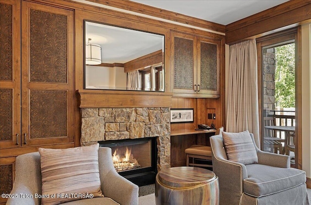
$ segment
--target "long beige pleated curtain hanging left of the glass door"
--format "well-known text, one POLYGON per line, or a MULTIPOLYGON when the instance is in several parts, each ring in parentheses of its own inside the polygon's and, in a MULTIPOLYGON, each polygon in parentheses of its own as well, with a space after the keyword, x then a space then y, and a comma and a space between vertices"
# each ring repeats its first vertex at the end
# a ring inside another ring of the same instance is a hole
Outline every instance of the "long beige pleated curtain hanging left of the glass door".
POLYGON ((256 41, 230 46, 229 79, 226 92, 226 131, 248 130, 259 146, 259 112, 256 41))

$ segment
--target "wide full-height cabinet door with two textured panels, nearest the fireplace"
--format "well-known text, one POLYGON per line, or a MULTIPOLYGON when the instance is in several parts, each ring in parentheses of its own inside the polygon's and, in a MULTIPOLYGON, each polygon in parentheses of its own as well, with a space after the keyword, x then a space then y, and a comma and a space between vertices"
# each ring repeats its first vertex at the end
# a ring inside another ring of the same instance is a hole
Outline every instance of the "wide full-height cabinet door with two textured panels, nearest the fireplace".
POLYGON ((73 142, 73 11, 22 1, 22 146, 73 142))

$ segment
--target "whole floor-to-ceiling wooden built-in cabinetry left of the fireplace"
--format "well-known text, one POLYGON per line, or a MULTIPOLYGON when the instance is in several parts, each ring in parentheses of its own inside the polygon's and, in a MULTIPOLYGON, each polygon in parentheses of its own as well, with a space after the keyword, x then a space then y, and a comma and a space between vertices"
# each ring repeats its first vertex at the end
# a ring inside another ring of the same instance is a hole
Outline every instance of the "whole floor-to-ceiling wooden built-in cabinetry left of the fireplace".
POLYGON ((17 155, 74 146, 73 11, 0 0, 0 15, 0 192, 8 193, 17 155))

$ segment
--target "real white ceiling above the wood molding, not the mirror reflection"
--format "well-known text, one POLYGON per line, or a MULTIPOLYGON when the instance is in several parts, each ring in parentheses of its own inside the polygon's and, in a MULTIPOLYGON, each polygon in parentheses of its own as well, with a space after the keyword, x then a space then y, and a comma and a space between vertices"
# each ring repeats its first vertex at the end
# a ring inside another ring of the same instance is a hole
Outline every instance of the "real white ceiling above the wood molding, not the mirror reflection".
POLYGON ((132 0, 179 14, 228 25, 288 0, 132 0))

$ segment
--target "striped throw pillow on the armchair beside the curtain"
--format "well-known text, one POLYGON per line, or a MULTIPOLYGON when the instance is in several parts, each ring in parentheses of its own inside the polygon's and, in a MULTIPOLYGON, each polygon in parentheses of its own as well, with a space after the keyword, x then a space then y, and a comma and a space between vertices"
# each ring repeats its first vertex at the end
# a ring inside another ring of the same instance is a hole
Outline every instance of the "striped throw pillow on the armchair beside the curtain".
POLYGON ((239 133, 222 132, 228 160, 246 164, 258 163, 255 145, 248 130, 239 133))

